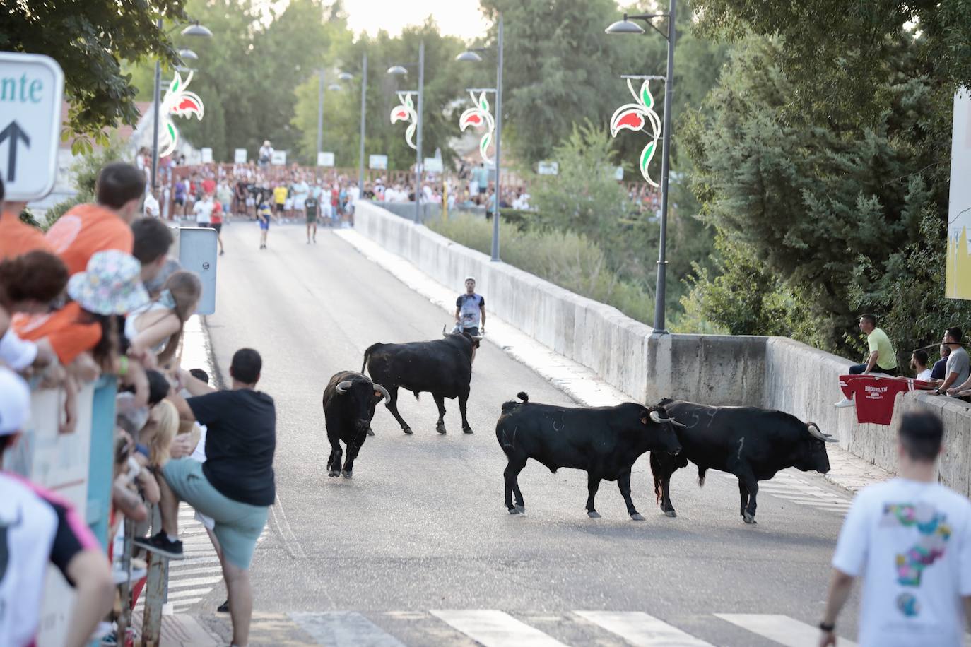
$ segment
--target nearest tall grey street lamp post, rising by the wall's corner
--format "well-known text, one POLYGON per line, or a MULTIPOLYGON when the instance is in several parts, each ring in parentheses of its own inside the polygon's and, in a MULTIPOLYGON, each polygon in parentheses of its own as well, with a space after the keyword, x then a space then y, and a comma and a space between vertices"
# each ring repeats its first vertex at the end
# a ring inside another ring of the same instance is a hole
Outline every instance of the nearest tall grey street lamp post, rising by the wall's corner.
POLYGON ((640 25, 630 22, 630 20, 644 20, 654 31, 666 38, 668 42, 667 73, 664 77, 664 129, 661 133, 661 221, 657 250, 657 287, 654 290, 654 335, 667 334, 664 325, 664 301, 667 278, 665 246, 667 243, 668 172, 670 170, 671 154, 671 105, 672 91, 674 89, 674 46, 676 38, 674 23, 676 3, 677 0, 671 0, 671 6, 667 14, 640 14, 637 16, 627 16, 624 14, 623 20, 615 22, 605 30, 608 34, 643 34, 645 33, 644 29, 640 25), (667 33, 654 26, 651 20, 655 17, 667 18, 667 33))

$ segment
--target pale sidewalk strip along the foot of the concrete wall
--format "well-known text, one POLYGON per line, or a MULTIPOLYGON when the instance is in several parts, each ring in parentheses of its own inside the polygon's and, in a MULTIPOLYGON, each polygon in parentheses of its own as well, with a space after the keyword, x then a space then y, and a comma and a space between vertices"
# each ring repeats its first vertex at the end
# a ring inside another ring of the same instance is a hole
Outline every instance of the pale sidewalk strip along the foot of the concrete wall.
MULTIPOLYGON (((334 233, 351 244, 365 258, 384 268, 406 286, 452 315, 453 290, 421 272, 407 259, 392 254, 378 243, 352 229, 334 233)), ((495 315, 490 314, 488 317, 488 331, 485 340, 496 344, 520 364, 542 375, 577 404, 609 406, 636 401, 635 398, 605 382, 596 372, 554 352, 495 315)), ((513 395, 510 394, 511 397, 513 395)), ((828 450, 830 470, 823 474, 823 477, 850 493, 893 477, 890 472, 867 463, 838 446, 828 450)))

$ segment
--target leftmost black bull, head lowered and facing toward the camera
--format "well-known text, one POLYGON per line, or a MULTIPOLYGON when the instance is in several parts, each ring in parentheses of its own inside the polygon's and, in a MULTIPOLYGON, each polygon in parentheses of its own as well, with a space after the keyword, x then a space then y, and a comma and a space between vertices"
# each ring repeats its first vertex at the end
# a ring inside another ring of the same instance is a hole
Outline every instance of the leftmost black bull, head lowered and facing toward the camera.
POLYGON ((374 436, 371 419, 379 402, 388 397, 385 387, 375 384, 359 372, 342 371, 330 378, 323 390, 323 419, 330 441, 327 475, 337 476, 340 469, 351 478, 354 459, 365 438, 374 436), (341 469, 341 441, 348 446, 348 458, 341 469))

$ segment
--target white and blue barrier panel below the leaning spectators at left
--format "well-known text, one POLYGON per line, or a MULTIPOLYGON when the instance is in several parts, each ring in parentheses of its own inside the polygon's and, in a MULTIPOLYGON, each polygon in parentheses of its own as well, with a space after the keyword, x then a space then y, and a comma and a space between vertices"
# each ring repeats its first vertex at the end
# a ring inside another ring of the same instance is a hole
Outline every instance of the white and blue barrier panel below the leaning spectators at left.
MULTIPOLYGON (((70 501, 107 550, 114 467, 114 377, 101 377, 78 394, 78 424, 60 434, 64 407, 60 390, 35 389, 31 422, 4 457, 4 469, 16 472, 70 501)), ((74 590, 50 566, 37 635, 38 645, 61 645, 74 607, 74 590)))

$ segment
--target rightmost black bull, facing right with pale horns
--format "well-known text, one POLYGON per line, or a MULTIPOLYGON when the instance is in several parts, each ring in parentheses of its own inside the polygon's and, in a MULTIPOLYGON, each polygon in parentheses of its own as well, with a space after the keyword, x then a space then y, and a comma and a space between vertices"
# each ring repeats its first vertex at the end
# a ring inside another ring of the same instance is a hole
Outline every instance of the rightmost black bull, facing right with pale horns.
POLYGON ((838 442, 823 434, 815 422, 804 423, 782 411, 753 406, 707 406, 663 400, 661 404, 680 425, 682 452, 677 457, 651 453, 654 494, 664 514, 677 516, 671 503, 671 474, 687 467, 698 468, 698 484, 705 484, 705 471, 720 469, 738 478, 740 512, 747 524, 755 523, 758 481, 776 475, 780 469, 829 471, 827 442, 838 442))

